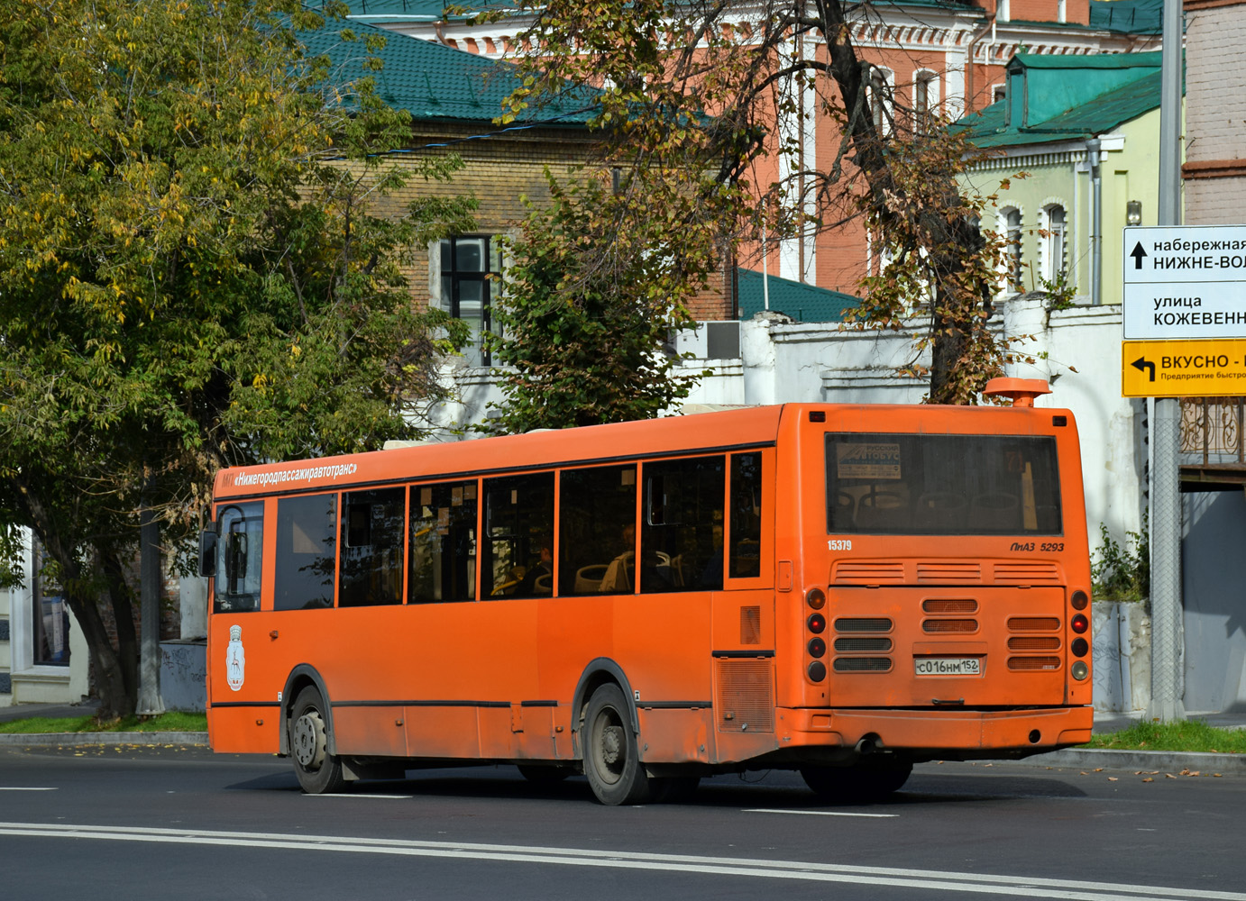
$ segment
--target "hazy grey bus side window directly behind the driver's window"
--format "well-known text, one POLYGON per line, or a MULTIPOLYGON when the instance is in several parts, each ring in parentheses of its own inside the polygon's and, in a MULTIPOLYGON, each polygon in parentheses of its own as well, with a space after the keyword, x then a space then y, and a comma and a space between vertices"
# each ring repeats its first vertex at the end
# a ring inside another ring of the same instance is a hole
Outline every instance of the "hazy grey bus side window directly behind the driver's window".
POLYGON ((336 494, 278 498, 273 610, 333 606, 336 531, 336 494))

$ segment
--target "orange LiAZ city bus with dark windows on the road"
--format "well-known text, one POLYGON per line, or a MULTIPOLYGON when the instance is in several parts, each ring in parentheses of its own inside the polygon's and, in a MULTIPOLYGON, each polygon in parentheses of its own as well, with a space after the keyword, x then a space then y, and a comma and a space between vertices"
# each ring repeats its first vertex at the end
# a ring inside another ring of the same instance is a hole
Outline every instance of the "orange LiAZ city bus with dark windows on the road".
POLYGON ((791 403, 222 470, 208 731, 303 789, 461 762, 606 804, 1089 740, 1073 416, 791 403))

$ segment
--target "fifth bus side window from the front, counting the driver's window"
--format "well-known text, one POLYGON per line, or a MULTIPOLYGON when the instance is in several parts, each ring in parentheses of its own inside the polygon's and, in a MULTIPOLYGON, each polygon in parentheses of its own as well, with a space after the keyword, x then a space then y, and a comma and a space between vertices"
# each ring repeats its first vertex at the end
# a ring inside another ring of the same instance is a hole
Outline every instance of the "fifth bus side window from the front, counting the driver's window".
POLYGON ((485 480, 485 546, 481 594, 528 597, 553 594, 552 574, 525 581, 553 534, 553 473, 485 480))

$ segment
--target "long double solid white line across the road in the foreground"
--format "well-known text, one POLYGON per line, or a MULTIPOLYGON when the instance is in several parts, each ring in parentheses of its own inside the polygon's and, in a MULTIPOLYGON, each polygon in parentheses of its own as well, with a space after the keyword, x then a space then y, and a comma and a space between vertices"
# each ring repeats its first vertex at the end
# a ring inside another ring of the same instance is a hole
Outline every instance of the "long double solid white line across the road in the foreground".
POLYGON ((597 851, 578 847, 540 847, 526 845, 483 845, 459 841, 417 841, 407 839, 360 839, 340 835, 283 835, 280 833, 235 833, 207 829, 157 829, 128 826, 91 826, 47 823, 0 823, 0 835, 61 839, 102 839, 110 841, 147 841, 153 844, 211 845, 348 854, 385 854, 407 857, 444 857, 523 864, 594 866, 614 870, 653 870, 699 872, 711 876, 749 876, 812 882, 933 889, 977 895, 1003 895, 1028 899, 1065 899, 1067 901, 1246 901, 1246 895, 1205 889, 1166 889, 1120 882, 1028 879, 977 872, 943 872, 881 866, 849 866, 794 860, 748 857, 701 857, 679 854, 637 851, 597 851))

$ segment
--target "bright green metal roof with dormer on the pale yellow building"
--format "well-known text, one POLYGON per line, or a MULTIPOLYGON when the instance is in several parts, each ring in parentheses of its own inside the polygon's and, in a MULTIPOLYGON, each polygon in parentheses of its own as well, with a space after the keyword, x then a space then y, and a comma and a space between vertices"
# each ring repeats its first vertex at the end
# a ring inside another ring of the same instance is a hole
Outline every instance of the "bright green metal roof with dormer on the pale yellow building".
MULTIPOLYGON (((1009 98, 967 116, 957 126, 968 128, 977 147, 1042 144, 1062 138, 1110 132, 1160 105, 1159 54, 1099 56, 1034 56, 1018 54, 1025 72, 1027 124, 1009 122, 1009 98), (1144 57, 1133 60, 1130 57, 1144 57), (1154 57, 1155 65, 1150 65, 1154 57), (1082 63, 1082 65, 1078 65, 1082 63), (1104 77, 1106 76, 1106 77, 1104 77), (1124 83, 1121 77, 1125 77, 1124 83), (1042 97, 1034 108, 1035 92, 1042 97), (1038 113, 1035 116, 1035 112, 1038 113)), ((1014 83, 1009 78, 1009 86, 1014 83)), ((1015 108, 1014 108, 1015 111, 1015 108)))

